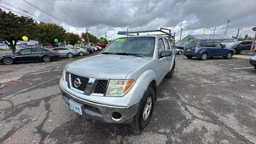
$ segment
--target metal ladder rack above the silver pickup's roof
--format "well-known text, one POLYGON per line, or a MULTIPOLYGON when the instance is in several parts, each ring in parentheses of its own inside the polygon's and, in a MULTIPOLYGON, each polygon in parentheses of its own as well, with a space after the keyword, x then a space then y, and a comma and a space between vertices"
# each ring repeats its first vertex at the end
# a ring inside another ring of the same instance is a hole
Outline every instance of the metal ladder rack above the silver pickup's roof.
POLYGON ((164 37, 167 37, 169 40, 171 38, 173 38, 174 42, 175 42, 175 32, 172 35, 171 30, 167 29, 167 28, 160 28, 160 30, 143 30, 143 31, 134 31, 134 32, 118 32, 117 34, 125 35, 125 36, 140 36, 140 33, 144 33, 144 32, 162 32, 163 34, 154 34, 154 35, 164 36, 164 37), (164 30, 168 30, 169 32, 166 32, 164 30), (134 34, 136 34, 136 35, 134 35, 134 34))

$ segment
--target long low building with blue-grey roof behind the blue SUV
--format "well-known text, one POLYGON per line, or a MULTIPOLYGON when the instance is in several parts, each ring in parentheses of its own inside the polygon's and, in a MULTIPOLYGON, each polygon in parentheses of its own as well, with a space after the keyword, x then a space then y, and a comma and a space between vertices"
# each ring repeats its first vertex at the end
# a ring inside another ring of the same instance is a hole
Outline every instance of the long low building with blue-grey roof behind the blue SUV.
POLYGON ((185 38, 182 38, 183 42, 192 42, 199 40, 216 40, 219 42, 231 42, 235 39, 224 34, 189 34, 185 38))

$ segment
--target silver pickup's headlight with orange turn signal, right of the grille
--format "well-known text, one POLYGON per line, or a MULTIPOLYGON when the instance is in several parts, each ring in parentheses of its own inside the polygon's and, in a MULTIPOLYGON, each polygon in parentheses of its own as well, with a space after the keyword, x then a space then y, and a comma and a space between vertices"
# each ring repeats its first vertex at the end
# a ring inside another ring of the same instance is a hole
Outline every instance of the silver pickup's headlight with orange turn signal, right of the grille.
POLYGON ((110 80, 106 96, 124 96, 134 85, 134 80, 110 80))

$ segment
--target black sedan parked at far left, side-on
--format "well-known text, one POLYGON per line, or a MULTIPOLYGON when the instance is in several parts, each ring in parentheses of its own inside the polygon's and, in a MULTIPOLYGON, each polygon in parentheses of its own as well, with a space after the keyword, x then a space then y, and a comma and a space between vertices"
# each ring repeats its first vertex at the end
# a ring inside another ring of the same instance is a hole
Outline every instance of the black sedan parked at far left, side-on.
POLYGON ((0 56, 0 62, 4 64, 14 64, 14 62, 44 61, 50 62, 59 58, 58 52, 48 48, 24 48, 14 54, 0 56))

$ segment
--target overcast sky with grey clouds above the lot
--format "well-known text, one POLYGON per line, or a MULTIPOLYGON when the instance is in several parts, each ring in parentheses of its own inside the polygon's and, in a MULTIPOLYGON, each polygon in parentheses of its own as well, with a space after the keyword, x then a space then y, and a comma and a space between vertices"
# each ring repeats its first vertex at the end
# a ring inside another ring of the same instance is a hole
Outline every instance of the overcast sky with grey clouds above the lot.
POLYGON ((256 26, 256 0, 1 0, 0 6, 38 22, 54 22, 70 32, 80 34, 88 28, 95 36, 107 33, 108 40, 120 37, 116 33, 127 28, 170 28, 179 40, 181 28, 184 38, 204 30, 213 34, 214 26, 216 34, 223 34, 227 20, 228 36, 236 35, 238 28, 242 36, 254 36, 251 28, 256 26))

